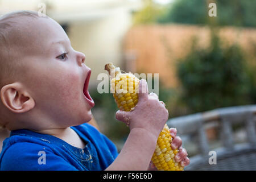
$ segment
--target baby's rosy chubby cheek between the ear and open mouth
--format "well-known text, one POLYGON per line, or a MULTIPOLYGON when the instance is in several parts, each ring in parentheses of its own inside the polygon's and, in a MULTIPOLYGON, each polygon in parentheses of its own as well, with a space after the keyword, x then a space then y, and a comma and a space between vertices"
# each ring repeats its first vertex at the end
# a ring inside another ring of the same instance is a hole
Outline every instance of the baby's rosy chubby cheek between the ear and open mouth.
POLYGON ((80 73, 61 69, 55 74, 41 75, 36 80, 33 87, 39 109, 70 126, 90 120, 92 114, 84 99, 84 82, 80 73))

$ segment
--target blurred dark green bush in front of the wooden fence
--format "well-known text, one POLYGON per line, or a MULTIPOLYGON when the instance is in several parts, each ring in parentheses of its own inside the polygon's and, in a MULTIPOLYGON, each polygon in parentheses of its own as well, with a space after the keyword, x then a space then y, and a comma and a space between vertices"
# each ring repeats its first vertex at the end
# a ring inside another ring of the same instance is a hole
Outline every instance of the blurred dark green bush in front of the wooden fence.
POLYGON ((188 55, 178 61, 177 76, 183 88, 181 100, 192 113, 251 103, 241 48, 223 47, 215 33, 208 48, 197 48, 193 42, 188 55))

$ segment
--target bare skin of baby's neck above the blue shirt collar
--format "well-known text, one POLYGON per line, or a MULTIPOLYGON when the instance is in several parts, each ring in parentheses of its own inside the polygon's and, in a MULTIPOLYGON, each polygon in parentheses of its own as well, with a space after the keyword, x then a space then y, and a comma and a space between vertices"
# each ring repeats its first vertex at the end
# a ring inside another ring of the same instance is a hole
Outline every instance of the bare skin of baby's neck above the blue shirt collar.
POLYGON ((84 140, 82 140, 79 135, 70 127, 67 127, 65 129, 35 130, 35 132, 48 134, 60 138, 68 144, 71 144, 72 146, 77 148, 83 149, 85 147, 84 140))

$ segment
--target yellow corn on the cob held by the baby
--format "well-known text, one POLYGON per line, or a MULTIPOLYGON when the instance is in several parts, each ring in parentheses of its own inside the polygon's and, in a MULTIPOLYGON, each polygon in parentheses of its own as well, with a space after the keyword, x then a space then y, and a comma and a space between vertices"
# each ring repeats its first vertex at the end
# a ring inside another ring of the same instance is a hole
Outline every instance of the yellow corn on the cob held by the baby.
MULTIPOLYGON (((105 69, 110 75, 112 93, 115 102, 120 110, 130 111, 138 102, 139 79, 131 73, 122 73, 112 63, 106 64, 105 69), (111 70, 111 71, 110 71, 111 70), (112 73, 114 71, 114 73, 112 73)), ((158 170, 182 171, 183 167, 175 162, 175 155, 178 150, 171 147, 172 137, 167 125, 161 131, 155 152, 152 156, 152 163, 158 170)))

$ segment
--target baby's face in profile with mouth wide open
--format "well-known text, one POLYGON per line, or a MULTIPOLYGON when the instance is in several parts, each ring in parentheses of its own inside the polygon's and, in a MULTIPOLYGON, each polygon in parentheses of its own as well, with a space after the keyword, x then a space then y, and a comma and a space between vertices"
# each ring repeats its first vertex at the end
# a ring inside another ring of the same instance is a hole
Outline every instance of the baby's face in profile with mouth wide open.
POLYGON ((32 51, 22 58, 21 80, 35 101, 31 114, 45 119, 32 121, 31 129, 56 129, 90 121, 94 102, 88 92, 91 71, 84 64, 85 55, 71 47, 67 34, 54 20, 39 18, 35 22, 26 33, 32 51))

